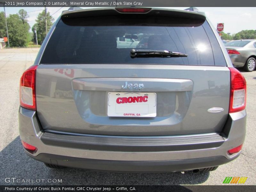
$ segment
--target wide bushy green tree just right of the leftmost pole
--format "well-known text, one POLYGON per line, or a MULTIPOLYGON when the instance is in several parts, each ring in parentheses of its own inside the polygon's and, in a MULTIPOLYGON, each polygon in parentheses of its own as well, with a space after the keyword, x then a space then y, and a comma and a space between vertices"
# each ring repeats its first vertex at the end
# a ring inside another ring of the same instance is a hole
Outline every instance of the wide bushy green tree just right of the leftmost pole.
POLYGON ((9 15, 7 18, 9 42, 11 47, 23 47, 27 43, 29 25, 24 25, 18 14, 9 15))

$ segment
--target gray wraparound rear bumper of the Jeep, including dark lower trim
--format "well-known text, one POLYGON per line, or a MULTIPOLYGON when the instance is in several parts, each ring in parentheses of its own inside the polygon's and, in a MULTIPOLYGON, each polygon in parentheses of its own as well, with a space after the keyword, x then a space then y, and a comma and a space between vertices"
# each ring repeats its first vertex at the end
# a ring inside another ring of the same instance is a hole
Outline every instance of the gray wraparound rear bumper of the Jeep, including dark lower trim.
MULTIPOLYGON (((165 144, 159 144, 159 140, 157 140, 155 143, 157 145, 141 144, 140 149, 136 148, 137 144, 133 146, 131 144, 123 145, 125 143, 121 140, 115 141, 120 142, 120 145, 118 145, 120 147, 106 146, 108 142, 105 142, 103 146, 96 145, 99 148, 95 148, 95 141, 99 139, 97 135, 95 136, 96 140, 91 140, 94 144, 89 142, 89 145, 88 143, 79 143, 78 138, 81 139, 81 137, 72 136, 72 139, 67 139, 70 134, 62 139, 60 137, 54 137, 53 140, 49 139, 51 135, 49 136, 48 133, 47 136, 46 132, 41 129, 35 111, 22 107, 19 110, 20 138, 38 148, 34 153, 26 151, 29 156, 45 163, 103 171, 186 171, 224 164, 239 156, 240 152, 229 155, 227 151, 243 144, 245 124, 246 112, 244 110, 229 114, 223 132, 219 134, 219 137, 216 133, 213 133, 216 135, 215 139, 212 137, 208 141, 203 140, 201 143, 193 140, 191 143, 187 141, 172 145, 175 142, 170 136, 168 137, 169 141, 165 144), (54 140, 58 140, 58 142, 53 142, 54 140), (67 142, 64 142, 65 140, 67 142), (72 142, 72 140, 75 140, 75 142, 72 142), (78 142, 77 145, 76 142, 78 142), (160 150, 161 146, 162 150, 160 150)), ((50 134, 54 135, 55 133, 50 134)), ((88 141, 88 138, 86 141, 88 141)))

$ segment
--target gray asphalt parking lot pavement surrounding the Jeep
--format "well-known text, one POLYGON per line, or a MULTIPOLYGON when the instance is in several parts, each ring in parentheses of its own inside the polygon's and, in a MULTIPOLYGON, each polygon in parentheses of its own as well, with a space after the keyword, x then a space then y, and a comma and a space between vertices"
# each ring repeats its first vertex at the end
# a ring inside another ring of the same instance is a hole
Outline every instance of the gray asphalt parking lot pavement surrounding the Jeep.
POLYGON ((28 157, 21 146, 18 131, 19 81, 23 71, 33 64, 38 48, 0 50, 0 185, 222 185, 225 177, 248 177, 244 185, 256 181, 256 71, 241 70, 247 81, 247 132, 241 155, 210 173, 113 173, 82 169, 54 170, 28 157), (61 179, 60 183, 5 182, 5 178, 61 179))

